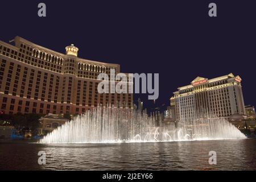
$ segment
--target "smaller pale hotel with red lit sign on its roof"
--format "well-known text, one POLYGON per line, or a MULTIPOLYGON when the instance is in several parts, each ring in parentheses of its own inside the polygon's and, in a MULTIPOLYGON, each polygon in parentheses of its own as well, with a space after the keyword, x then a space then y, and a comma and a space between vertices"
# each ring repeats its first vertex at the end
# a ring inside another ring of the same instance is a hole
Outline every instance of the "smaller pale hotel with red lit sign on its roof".
POLYGON ((241 77, 229 75, 209 79, 197 77, 191 85, 182 86, 171 97, 177 121, 188 121, 211 114, 229 118, 232 114, 245 115, 241 77))

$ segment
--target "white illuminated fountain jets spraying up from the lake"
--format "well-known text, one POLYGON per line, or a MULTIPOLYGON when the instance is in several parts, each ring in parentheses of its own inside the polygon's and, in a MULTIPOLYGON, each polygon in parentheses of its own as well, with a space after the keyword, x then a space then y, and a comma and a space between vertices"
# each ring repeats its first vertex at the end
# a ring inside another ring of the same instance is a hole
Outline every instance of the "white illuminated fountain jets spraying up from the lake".
POLYGON ((223 118, 201 118, 158 127, 146 111, 95 107, 47 134, 39 143, 164 142, 246 138, 223 118))

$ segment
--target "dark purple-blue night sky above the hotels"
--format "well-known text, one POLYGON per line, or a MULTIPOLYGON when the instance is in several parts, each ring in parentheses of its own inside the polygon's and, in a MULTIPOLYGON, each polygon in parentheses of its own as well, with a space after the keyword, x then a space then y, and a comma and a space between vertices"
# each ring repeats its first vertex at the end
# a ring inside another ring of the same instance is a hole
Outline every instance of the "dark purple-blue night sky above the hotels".
MULTIPOLYGON (((159 73, 155 106, 197 76, 231 72, 242 78, 245 105, 256 105, 253 1, 1 1, 0 16, 4 42, 18 35, 62 53, 73 43, 79 57, 121 64, 121 72, 159 73), (38 16, 40 2, 46 18, 38 16)), ((154 107, 147 94, 138 97, 154 107)))

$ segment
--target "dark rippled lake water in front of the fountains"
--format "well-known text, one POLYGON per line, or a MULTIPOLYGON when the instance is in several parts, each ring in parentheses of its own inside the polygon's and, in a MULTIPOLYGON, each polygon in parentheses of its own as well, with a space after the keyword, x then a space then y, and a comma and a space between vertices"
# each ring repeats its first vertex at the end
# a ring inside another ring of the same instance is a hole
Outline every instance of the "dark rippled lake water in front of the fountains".
POLYGON ((256 139, 193 142, 0 143, 1 170, 256 170, 256 139), (46 165, 38 152, 46 152, 46 165), (209 165, 209 151, 217 165, 209 165))

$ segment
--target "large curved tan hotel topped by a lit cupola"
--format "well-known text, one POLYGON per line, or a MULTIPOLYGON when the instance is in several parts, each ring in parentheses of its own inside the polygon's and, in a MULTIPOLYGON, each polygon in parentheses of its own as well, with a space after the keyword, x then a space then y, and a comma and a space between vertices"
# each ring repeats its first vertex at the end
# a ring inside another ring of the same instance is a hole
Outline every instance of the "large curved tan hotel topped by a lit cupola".
POLYGON ((110 69, 117 74, 120 65, 81 59, 73 44, 63 54, 18 36, 14 42, 0 41, 1 113, 81 114, 118 103, 133 108, 133 94, 97 91, 98 74, 110 77, 110 69))

